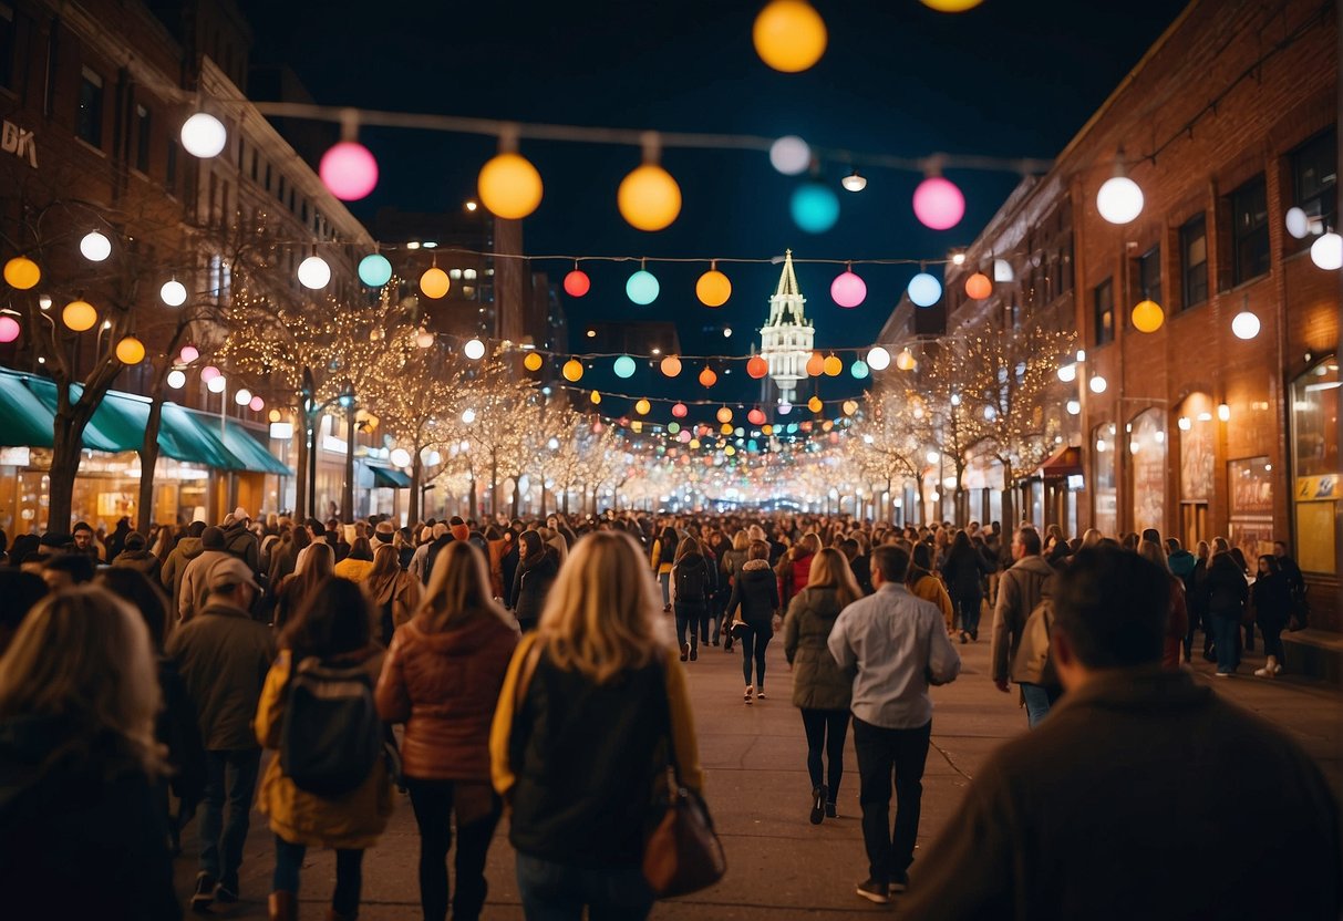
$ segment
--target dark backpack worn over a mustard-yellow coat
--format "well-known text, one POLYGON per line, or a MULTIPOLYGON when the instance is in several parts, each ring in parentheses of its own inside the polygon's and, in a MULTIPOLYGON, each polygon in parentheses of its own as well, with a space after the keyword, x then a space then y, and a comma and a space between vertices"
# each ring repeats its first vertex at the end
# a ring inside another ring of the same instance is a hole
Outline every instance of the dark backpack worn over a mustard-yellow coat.
POLYGON ((286 691, 279 730, 285 776, 325 797, 363 784, 383 755, 383 721, 368 673, 308 658, 294 669, 286 691))

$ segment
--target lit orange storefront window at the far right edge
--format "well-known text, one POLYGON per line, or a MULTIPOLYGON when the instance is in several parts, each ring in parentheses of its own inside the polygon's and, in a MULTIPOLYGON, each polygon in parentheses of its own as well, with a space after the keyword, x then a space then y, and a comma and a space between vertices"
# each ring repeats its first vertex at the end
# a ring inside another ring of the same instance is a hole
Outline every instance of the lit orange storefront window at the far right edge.
POLYGON ((1335 573, 1339 498, 1339 362, 1328 358, 1292 381, 1292 497, 1296 561, 1335 573))

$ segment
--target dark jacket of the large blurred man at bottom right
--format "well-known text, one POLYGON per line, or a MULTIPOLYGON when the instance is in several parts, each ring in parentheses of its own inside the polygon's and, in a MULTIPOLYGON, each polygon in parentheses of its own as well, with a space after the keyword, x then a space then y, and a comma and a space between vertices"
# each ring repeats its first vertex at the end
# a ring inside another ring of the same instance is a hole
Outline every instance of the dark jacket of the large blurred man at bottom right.
POLYGON ((1154 665, 1095 677, 998 748, 915 862, 900 913, 1332 921, 1339 836, 1339 804, 1295 741, 1154 665))

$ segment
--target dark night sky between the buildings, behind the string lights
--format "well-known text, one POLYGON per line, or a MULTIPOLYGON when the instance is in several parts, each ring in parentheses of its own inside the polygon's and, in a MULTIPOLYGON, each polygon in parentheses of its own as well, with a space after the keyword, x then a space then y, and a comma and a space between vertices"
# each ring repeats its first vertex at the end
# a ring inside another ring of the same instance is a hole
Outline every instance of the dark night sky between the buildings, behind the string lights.
MULTIPOLYGON (((1053 157, 1109 95, 1183 8, 1172 0, 1092 4, 1064 0, 984 0, 947 15, 917 0, 815 0, 830 31, 826 55, 810 71, 766 67, 751 44, 761 3, 680 0, 662 4, 492 3, 352 4, 242 0, 257 35, 254 63, 290 64, 317 102, 517 121, 800 134, 815 146, 919 157, 932 152, 1053 157)), ((492 138, 364 130, 379 157, 375 193, 355 203, 372 222, 377 207, 447 211, 475 196, 475 175, 496 150, 492 138)), ((638 165, 635 149, 524 140, 540 169, 545 199, 524 224, 529 254, 944 258, 970 243, 1017 177, 948 171, 966 193, 962 223, 923 228, 909 207, 913 173, 862 171, 861 193, 838 191, 834 230, 808 235, 788 217, 798 177, 776 173, 763 153, 669 150, 663 165, 681 184, 684 208, 659 234, 629 227, 615 208, 620 179, 638 165)), ((838 184, 847 172, 822 164, 838 184)), ((838 185, 837 185, 838 188, 838 185)), ((571 267, 545 263, 559 281, 571 267)), ((694 298, 708 266, 657 266, 661 297, 635 307, 624 297, 633 266, 590 264, 592 293, 567 298, 573 338, 586 321, 642 314, 674 318, 686 354, 745 354, 764 321, 776 266, 723 269, 732 299, 709 310, 694 298), (721 328, 733 328, 725 340, 721 328)), ((908 267, 865 267, 868 299, 841 310, 829 295, 838 269, 800 266, 817 344, 870 345, 905 282, 908 267)), ((583 384, 612 387, 607 373, 583 384)), ((740 371, 712 392, 751 399, 740 371)), ((708 396, 682 372, 677 384, 641 371, 627 392, 708 396), (639 381, 647 381, 641 384, 639 381)), ((822 396, 861 391, 847 373, 822 396)), ((615 405, 603 404, 603 409, 615 405)), ((654 415, 665 415, 658 414, 654 415)))

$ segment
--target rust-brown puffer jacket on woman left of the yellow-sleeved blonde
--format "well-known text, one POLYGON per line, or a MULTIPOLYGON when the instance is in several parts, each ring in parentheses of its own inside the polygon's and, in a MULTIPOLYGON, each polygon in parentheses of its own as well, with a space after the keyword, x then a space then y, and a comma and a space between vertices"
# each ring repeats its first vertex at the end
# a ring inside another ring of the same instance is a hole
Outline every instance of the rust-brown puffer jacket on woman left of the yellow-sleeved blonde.
POLYGON ((407 777, 489 781, 490 721, 516 646, 517 630, 492 614, 441 632, 419 616, 396 631, 377 712, 406 724, 407 777))

